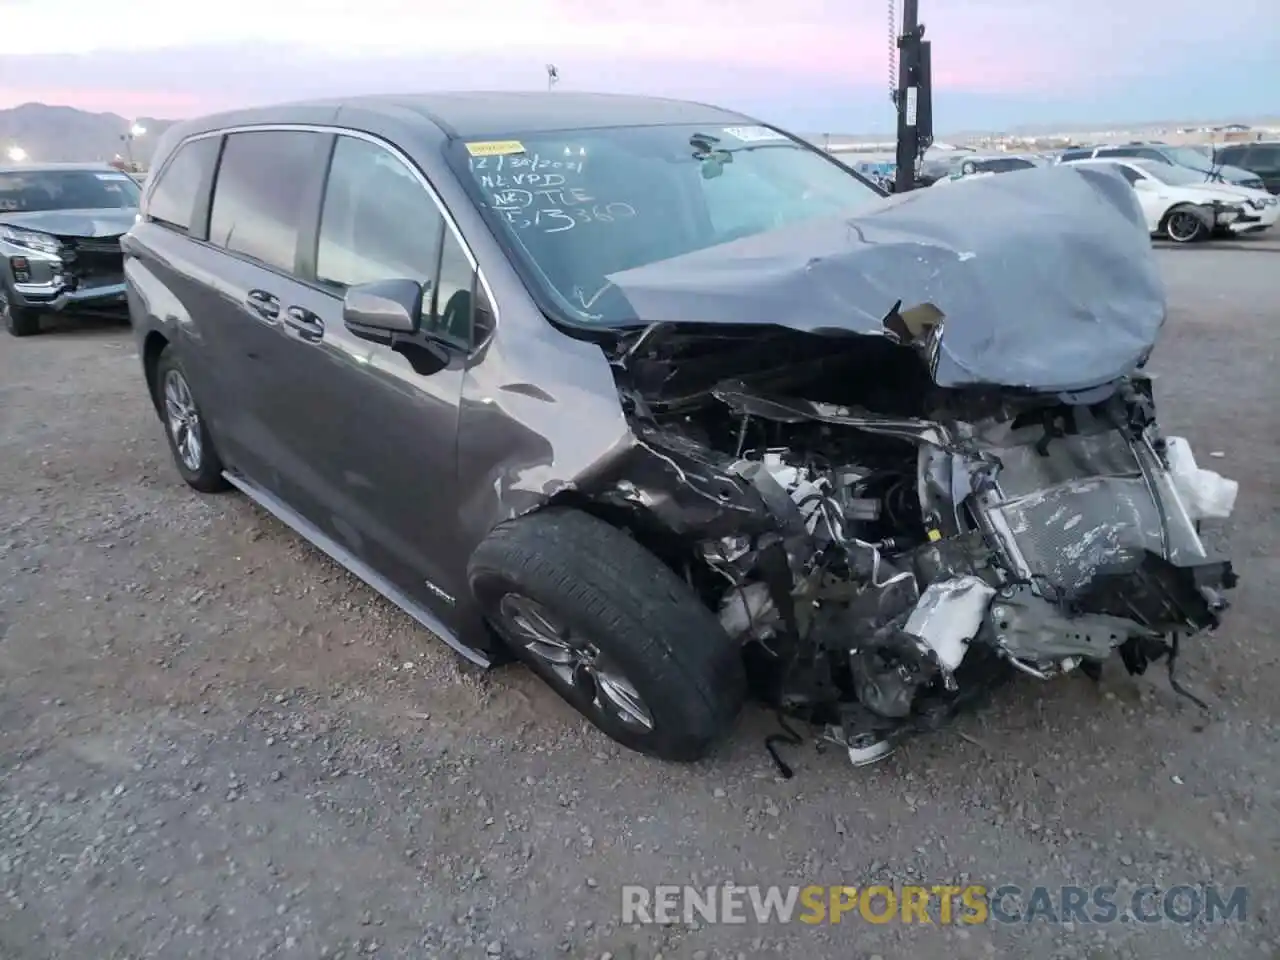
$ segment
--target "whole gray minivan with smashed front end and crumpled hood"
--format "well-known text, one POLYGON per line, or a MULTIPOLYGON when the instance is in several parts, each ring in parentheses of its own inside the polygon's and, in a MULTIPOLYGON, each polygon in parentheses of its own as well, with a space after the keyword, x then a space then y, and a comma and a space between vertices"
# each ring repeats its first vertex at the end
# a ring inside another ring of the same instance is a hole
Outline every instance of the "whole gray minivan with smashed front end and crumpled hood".
POLYGON ((1128 184, 886 197, 758 120, 456 93, 169 129, 125 238, 178 471, 466 658, 703 756, 746 698, 855 763, 1002 680, 1213 627, 1234 485, 1161 434, 1128 184))

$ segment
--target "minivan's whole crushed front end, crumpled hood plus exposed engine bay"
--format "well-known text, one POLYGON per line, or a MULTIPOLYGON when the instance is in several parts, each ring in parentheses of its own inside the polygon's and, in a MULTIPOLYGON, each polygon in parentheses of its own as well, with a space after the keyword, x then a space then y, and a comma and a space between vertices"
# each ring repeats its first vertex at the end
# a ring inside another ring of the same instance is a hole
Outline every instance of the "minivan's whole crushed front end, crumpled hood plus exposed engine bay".
POLYGON ((1164 284, 1119 175, 915 191, 611 279, 644 323, 611 355, 636 443, 576 492, 855 762, 1016 673, 1172 678, 1217 623, 1235 575, 1198 524, 1235 485, 1156 425, 1164 284))

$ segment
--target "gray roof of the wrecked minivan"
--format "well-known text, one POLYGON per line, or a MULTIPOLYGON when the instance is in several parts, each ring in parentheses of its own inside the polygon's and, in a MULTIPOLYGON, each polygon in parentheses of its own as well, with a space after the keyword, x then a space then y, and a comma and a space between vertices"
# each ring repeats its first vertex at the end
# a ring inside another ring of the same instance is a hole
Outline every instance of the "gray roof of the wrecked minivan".
POLYGON ((756 123, 731 110, 664 97, 568 91, 474 91, 311 100, 236 110, 183 125, 188 129, 215 129, 237 124, 279 123, 294 110, 314 116, 326 109, 334 114, 343 109, 384 114, 388 119, 401 122, 407 119, 406 115, 417 115, 439 127, 451 138, 667 123, 756 123))

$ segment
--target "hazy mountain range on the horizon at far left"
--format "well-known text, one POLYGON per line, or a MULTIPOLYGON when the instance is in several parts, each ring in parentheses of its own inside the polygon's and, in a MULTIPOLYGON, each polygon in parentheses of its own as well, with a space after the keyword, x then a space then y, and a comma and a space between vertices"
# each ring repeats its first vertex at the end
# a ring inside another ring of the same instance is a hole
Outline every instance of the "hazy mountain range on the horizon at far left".
POLYGON ((8 151, 20 147, 32 160, 111 160, 116 155, 146 164, 155 150, 156 137, 173 120, 154 116, 127 119, 116 114, 91 114, 73 106, 22 104, 0 110, 0 164, 8 151), (127 137, 134 125, 146 129, 132 142, 127 137))

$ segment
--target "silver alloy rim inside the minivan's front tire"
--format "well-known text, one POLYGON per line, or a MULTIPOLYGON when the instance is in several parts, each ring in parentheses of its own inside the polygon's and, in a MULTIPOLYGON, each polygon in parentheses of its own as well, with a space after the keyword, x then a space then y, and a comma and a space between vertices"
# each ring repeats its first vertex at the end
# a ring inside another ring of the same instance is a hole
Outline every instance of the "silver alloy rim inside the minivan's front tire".
POLYGON ((653 714, 618 664, 590 639, 562 625, 543 604, 508 593, 498 603, 507 632, 556 678, 591 708, 622 726, 648 732, 653 714))

